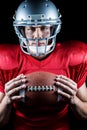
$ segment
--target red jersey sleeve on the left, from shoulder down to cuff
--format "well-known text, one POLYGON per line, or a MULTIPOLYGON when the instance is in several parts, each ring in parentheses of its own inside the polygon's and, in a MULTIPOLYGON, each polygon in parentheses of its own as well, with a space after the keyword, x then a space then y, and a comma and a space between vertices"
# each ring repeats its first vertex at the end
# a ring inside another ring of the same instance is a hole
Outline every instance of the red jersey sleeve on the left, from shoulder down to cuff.
POLYGON ((5 83, 11 80, 18 67, 17 47, 12 44, 0 44, 0 92, 4 93, 5 83))

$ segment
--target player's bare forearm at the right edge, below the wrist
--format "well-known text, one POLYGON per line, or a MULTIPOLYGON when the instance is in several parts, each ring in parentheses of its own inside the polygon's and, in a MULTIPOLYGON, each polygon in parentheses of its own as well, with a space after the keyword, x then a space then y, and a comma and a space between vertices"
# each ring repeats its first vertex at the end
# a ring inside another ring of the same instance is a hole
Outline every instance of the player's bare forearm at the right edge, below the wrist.
POLYGON ((77 117, 87 119, 87 102, 83 102, 76 97, 74 102, 70 105, 77 117))

